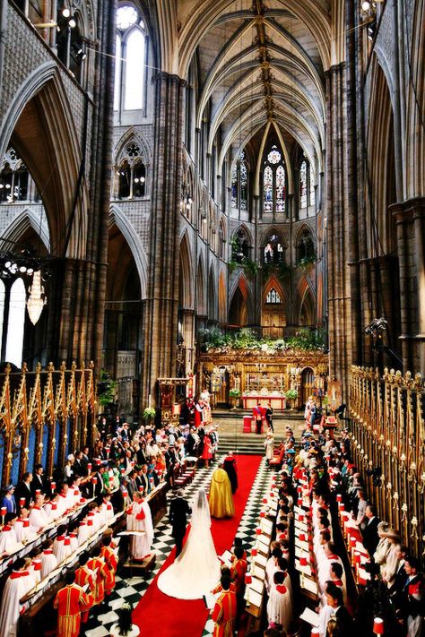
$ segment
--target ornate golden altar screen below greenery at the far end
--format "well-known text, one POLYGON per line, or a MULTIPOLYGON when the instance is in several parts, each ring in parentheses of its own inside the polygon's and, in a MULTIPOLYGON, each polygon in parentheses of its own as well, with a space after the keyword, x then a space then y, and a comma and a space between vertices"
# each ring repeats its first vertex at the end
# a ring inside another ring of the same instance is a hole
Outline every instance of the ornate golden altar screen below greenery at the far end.
POLYGON ((324 395, 329 359, 321 350, 264 351, 210 349, 199 357, 200 388, 208 388, 213 404, 228 404, 230 389, 239 389, 244 409, 257 401, 273 410, 285 409, 285 392, 298 392, 295 407, 311 394, 324 395))

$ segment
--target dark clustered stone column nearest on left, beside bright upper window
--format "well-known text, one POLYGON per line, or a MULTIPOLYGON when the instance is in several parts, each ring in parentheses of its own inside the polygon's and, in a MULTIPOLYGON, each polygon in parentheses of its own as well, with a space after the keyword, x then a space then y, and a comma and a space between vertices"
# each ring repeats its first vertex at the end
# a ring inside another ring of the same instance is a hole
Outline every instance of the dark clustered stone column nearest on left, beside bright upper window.
MULTIPOLYGON (((111 187, 113 130, 114 55, 116 7, 114 2, 100 3, 97 15, 99 49, 95 56, 92 102, 88 112, 87 146, 90 169, 82 157, 82 169, 89 185, 87 230, 81 245, 54 262, 48 301, 47 357, 56 366, 65 360, 89 363, 99 373, 103 347, 103 325, 107 284, 108 218, 111 187), (83 255, 74 258, 75 254, 83 255)), ((89 102, 89 96, 86 96, 89 102)), ((91 100, 90 100, 91 101, 91 100)), ((82 133, 83 136, 83 133, 82 133)), ((82 205, 78 194, 75 205, 82 205)), ((78 224, 78 215, 74 224, 78 224)), ((77 233, 78 234, 78 233, 77 233)))

